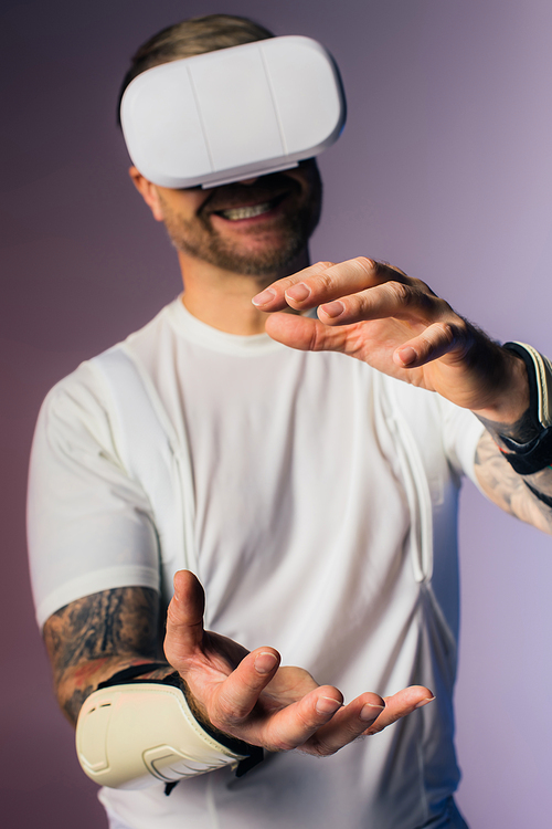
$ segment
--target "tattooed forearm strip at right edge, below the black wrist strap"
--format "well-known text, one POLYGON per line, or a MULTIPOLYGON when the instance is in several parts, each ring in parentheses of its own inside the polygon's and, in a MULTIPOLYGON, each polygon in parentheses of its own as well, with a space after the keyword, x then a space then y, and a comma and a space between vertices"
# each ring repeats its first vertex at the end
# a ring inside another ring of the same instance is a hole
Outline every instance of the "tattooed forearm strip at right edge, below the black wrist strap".
POLYGON ((552 534, 552 470, 519 475, 502 457, 489 432, 481 436, 475 470, 488 497, 521 521, 552 534))

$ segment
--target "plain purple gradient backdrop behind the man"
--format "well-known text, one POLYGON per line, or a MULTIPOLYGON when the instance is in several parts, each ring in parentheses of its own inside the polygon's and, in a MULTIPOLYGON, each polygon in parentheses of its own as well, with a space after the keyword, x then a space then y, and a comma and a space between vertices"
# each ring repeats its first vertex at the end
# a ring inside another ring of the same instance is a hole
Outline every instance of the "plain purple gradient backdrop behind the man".
MULTIPOLYGON (((28 454, 52 384, 179 291, 172 250, 127 178, 115 101, 139 43, 221 8, 3 0, 2 9, 2 825, 96 829, 103 810, 77 767, 33 621, 28 454)), ((349 123, 321 158, 314 258, 386 259, 493 336, 552 354, 550 0, 234 0, 223 10, 317 38, 341 67, 349 123)), ((469 484, 463 507, 459 804, 471 829, 544 829, 550 539, 469 484)))

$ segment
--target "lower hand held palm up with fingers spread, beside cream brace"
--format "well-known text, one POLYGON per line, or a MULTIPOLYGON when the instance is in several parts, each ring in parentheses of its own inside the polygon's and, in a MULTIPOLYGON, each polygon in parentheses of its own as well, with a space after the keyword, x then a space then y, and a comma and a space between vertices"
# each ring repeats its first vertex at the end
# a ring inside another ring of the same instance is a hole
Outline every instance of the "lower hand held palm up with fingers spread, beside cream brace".
POLYGON ((248 652, 205 631, 203 610, 195 576, 177 573, 167 618, 167 660, 187 683, 200 715, 250 744, 329 755, 433 699, 431 691, 415 685, 386 700, 367 692, 343 705, 337 688, 318 685, 301 668, 282 668, 274 648, 248 652))

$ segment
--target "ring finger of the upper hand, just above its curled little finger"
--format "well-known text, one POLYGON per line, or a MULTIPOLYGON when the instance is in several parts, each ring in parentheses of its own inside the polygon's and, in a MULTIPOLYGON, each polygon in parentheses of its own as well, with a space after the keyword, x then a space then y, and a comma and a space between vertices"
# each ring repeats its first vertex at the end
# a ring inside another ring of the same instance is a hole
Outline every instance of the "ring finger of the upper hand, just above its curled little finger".
POLYGON ((365 291, 350 293, 318 308, 326 325, 350 325, 367 319, 410 319, 433 322, 452 316, 448 303, 435 296, 423 283, 406 285, 394 280, 365 291))

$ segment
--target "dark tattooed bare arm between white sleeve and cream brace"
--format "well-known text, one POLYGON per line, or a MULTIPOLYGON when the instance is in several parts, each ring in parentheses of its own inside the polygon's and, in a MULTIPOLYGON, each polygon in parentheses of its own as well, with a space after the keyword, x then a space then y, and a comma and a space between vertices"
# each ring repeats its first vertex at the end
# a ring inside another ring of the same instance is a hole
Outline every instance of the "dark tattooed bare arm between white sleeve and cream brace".
MULTIPOLYGON (((140 662, 162 662, 159 597, 142 587, 86 596, 50 617, 44 641, 60 704, 73 723, 97 684, 140 662)), ((171 668, 160 669, 166 675, 171 668)))

